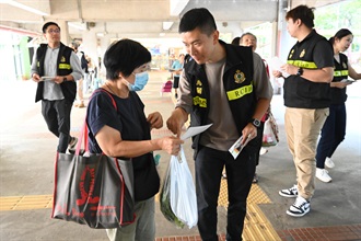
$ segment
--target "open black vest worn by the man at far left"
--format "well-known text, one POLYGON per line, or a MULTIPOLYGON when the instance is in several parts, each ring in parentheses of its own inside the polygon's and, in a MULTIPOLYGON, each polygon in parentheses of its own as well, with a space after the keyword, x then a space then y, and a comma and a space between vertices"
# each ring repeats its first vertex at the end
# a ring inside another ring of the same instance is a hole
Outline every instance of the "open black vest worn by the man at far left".
MULTIPOLYGON (((47 50, 47 44, 40 44, 40 46, 36 50, 36 67, 37 72, 42 77, 44 76, 44 60, 45 54, 47 50)), ((70 65, 70 56, 72 49, 65 46, 60 43, 59 55, 57 59, 57 74, 58 76, 68 76, 72 72, 72 68, 70 65)), ((62 94, 67 101, 73 102, 77 96, 77 83, 75 81, 65 81, 60 84, 62 94)), ((44 82, 40 81, 37 84, 35 102, 43 100, 43 91, 44 91, 44 82)))

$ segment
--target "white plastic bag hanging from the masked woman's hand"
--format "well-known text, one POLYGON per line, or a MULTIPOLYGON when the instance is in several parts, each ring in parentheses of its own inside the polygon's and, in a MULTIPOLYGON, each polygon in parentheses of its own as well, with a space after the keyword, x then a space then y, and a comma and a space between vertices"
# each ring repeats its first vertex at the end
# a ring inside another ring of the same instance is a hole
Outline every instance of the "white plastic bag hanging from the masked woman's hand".
POLYGON ((172 156, 170 165, 171 208, 174 215, 190 229, 198 221, 197 197, 193 176, 182 146, 179 154, 177 157, 172 156))

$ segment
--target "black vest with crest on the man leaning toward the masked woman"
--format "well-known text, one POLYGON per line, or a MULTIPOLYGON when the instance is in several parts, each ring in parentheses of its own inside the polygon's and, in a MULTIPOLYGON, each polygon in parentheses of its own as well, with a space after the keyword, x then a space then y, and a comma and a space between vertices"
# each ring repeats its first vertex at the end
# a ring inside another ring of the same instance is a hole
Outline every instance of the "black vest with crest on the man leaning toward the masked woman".
MULTIPOLYGON (((251 47, 241 47, 225 44, 226 61, 223 73, 223 85, 241 136, 242 129, 249 123, 256 107, 256 93, 253 81, 253 51, 251 47)), ((209 84, 203 65, 198 65, 189 55, 185 57, 184 64, 186 79, 190 85, 193 108, 190 113, 190 126, 208 124, 209 106, 212 103, 209 94, 209 84)), ((228 118, 229 116, 224 116, 228 118)), ((194 137, 193 148, 198 149, 200 135, 194 137)))

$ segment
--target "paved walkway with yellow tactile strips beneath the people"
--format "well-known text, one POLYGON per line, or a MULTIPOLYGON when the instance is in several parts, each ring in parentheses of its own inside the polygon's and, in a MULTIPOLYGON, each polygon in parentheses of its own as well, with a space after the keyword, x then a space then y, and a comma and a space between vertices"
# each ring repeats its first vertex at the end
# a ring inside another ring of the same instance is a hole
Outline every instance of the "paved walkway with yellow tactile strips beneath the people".
MULTIPOLYGON (((151 80, 140 92, 145 113, 159 111, 166 120, 174 104, 171 93, 160 94, 166 72, 151 72, 151 80)), ((104 240, 104 230, 50 219, 54 187, 54 160, 57 139, 49 134, 34 103, 36 84, 32 81, 0 84, 0 240, 104 240)), ((292 198, 278 195, 280 188, 294 183, 295 173, 287 149, 282 97, 275 95, 272 111, 280 128, 280 142, 269 148, 257 168, 259 183, 248 198, 244 240, 361 240, 361 83, 349 88, 347 136, 336 151, 336 168, 329 170, 331 183, 316 182, 312 209, 303 218, 286 215, 292 198)), ((73 107, 72 134, 77 135, 85 108, 73 107)), ((152 137, 170 135, 164 126, 152 137)), ((193 171, 190 141, 184 145, 193 171)), ((163 177, 170 156, 160 153, 159 173, 163 177)), ((197 228, 176 229, 159 210, 156 203, 156 240, 200 240, 197 228)), ((226 182, 222 181, 219 199, 220 240, 224 240, 226 182)))

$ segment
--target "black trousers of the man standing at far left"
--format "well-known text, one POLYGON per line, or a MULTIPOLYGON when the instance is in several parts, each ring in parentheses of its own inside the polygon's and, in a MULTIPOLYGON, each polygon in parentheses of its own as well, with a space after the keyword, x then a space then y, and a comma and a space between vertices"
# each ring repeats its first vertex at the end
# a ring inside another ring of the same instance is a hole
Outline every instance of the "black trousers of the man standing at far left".
POLYGON ((59 138, 57 151, 65 153, 70 141, 70 113, 72 102, 42 101, 42 114, 48 126, 48 129, 59 138))

